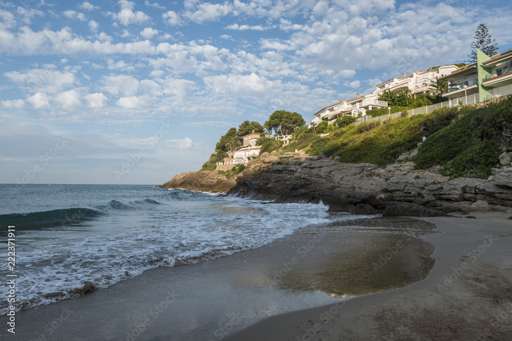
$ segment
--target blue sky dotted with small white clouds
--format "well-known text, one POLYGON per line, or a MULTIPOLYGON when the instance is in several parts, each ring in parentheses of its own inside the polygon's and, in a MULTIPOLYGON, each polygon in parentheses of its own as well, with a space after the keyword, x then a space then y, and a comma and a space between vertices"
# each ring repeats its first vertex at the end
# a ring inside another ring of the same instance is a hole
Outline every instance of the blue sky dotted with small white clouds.
POLYGON ((467 60, 481 22, 510 49, 511 21, 495 0, 0 0, 0 183, 163 184, 244 120, 467 60))

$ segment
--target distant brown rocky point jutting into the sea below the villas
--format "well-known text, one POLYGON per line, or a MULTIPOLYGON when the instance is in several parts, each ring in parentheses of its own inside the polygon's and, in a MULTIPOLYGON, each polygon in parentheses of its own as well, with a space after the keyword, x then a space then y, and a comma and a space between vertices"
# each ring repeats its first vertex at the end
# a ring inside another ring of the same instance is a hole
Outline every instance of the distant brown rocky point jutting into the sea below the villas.
POLYGON ((184 172, 176 175, 162 187, 182 188, 190 191, 227 192, 236 185, 237 176, 227 179, 218 172, 184 172))

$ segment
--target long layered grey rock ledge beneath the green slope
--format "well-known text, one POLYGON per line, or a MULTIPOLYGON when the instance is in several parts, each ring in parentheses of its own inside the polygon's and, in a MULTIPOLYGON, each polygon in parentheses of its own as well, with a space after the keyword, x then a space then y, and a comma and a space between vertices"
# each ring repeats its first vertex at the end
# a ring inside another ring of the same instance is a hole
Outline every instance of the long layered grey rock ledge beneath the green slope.
MULTIPOLYGON (((229 194, 317 202, 356 214, 438 216, 449 212, 512 208, 512 168, 493 169, 488 179, 441 175, 439 168, 414 170, 401 162, 386 168, 346 164, 325 156, 262 154, 251 160, 229 194)), ((511 212, 512 213, 512 212, 511 212)))

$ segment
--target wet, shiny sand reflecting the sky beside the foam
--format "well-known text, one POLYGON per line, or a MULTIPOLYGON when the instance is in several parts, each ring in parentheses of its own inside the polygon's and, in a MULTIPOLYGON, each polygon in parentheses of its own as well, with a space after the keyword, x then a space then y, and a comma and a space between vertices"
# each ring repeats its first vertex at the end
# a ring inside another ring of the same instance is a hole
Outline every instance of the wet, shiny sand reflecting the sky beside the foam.
MULTIPOLYGON (((351 297, 428 276, 433 244, 403 233, 422 235, 432 228, 409 218, 312 226, 257 249, 156 268, 82 297, 19 311, 16 334, 3 329, 0 338, 219 340, 244 327, 278 321, 279 330, 263 328, 270 338, 284 339, 303 316, 282 323, 288 316, 283 313, 308 314, 313 307, 350 303, 351 297), (265 320, 269 316, 274 317, 265 320)), ((0 316, 0 324, 6 322, 7 316, 0 316)))

